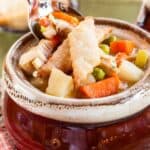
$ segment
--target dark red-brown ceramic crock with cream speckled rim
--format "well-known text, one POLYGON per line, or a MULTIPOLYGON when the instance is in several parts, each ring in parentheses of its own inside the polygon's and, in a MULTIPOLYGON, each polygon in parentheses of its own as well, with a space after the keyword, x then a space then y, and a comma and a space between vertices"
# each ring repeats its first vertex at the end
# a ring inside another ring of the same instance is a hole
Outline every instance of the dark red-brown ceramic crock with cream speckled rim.
MULTIPOLYGON (((150 50, 150 34, 136 25, 108 18, 96 18, 95 23, 112 27, 113 34, 150 50)), ((36 43, 31 33, 20 38, 3 68, 5 124, 18 147, 86 150, 111 145, 134 149, 150 143, 150 62, 143 78, 119 94, 90 100, 59 98, 34 88, 18 66, 20 55, 36 43), (148 142, 143 145, 140 140, 148 142)))

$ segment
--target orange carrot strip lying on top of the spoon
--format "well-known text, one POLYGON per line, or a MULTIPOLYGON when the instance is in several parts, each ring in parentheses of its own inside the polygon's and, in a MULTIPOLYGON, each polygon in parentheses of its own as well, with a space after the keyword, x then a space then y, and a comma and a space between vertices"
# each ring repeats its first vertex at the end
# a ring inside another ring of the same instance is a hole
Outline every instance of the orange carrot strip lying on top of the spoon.
POLYGON ((61 11, 55 11, 53 12, 53 16, 58 19, 65 20, 73 25, 78 25, 79 20, 76 17, 73 17, 71 15, 68 15, 67 13, 61 12, 61 11))

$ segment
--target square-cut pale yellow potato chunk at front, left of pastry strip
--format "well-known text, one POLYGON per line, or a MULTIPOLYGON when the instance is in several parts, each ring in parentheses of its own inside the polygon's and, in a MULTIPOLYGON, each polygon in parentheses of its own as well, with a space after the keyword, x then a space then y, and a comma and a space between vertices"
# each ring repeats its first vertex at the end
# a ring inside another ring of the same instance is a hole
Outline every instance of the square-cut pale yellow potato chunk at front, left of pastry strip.
POLYGON ((46 93, 49 95, 67 97, 73 91, 73 79, 61 70, 52 69, 46 93))

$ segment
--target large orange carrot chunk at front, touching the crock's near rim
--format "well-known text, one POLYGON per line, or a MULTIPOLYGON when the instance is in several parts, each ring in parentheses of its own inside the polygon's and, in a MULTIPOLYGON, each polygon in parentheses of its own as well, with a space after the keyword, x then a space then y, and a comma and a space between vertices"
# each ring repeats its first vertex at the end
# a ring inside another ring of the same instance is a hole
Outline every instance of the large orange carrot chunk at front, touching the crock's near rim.
POLYGON ((105 80, 81 86, 79 92, 85 98, 99 98, 116 94, 119 90, 120 80, 117 75, 105 80))

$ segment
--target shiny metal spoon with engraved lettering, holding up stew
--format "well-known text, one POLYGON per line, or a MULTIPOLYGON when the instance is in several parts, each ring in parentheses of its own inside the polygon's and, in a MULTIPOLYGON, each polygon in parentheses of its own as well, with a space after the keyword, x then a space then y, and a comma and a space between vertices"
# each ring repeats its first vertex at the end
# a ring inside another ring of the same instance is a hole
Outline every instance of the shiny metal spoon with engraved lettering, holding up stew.
POLYGON ((56 0, 28 0, 29 3, 29 29, 38 40, 44 38, 40 26, 37 22, 37 18, 45 17, 55 10, 60 10, 73 15, 81 20, 82 15, 77 10, 73 9, 69 5, 56 0))

